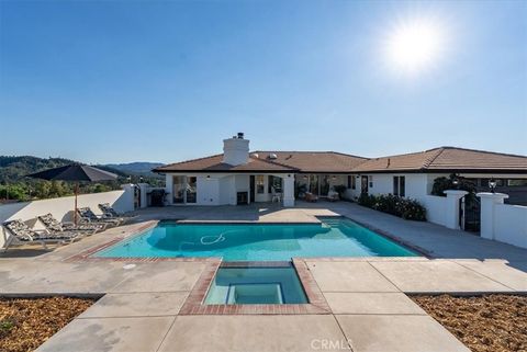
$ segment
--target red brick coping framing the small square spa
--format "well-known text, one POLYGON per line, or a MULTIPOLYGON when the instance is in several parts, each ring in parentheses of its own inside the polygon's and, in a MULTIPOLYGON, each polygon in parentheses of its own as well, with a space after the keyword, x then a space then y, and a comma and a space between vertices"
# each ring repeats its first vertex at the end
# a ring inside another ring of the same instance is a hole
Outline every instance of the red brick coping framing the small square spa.
MULTIPOLYGON (((289 263, 289 262, 288 262, 289 263)), ((306 314, 332 314, 326 298, 316 284, 307 265, 303 260, 293 259, 292 265, 296 271, 301 285, 307 296, 309 304, 284 304, 284 305, 205 305, 204 299, 209 288, 216 275, 220 266, 222 268, 243 268, 243 266, 283 266, 284 262, 228 262, 221 261, 209 263, 203 270, 200 279, 187 297, 179 315, 306 315, 306 314)))

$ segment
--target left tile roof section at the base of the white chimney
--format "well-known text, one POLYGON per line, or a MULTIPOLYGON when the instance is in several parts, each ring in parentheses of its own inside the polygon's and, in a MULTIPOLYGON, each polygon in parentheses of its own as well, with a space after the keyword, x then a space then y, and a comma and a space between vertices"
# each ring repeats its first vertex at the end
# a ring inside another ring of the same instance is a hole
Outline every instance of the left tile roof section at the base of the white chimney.
POLYGON ((232 166, 223 162, 223 154, 162 166, 154 172, 298 172, 295 168, 250 157, 246 164, 232 166))

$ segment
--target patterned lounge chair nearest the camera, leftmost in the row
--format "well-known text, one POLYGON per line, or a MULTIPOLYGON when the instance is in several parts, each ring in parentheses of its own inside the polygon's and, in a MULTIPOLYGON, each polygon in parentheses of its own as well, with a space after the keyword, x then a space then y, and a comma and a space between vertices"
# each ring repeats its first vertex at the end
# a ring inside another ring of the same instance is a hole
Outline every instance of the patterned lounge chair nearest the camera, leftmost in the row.
POLYGON ((41 243, 46 249, 47 243, 66 243, 79 239, 80 234, 76 232, 48 232, 46 230, 33 230, 24 222, 10 220, 2 224, 10 235, 4 245, 4 251, 13 243, 41 243))

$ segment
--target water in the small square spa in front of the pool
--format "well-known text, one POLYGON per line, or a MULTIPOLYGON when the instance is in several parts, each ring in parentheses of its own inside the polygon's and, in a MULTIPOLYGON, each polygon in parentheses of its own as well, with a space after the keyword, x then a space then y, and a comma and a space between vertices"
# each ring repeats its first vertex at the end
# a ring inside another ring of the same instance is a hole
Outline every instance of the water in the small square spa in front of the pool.
POLYGON ((220 268, 205 298, 205 305, 306 303, 292 266, 220 268))

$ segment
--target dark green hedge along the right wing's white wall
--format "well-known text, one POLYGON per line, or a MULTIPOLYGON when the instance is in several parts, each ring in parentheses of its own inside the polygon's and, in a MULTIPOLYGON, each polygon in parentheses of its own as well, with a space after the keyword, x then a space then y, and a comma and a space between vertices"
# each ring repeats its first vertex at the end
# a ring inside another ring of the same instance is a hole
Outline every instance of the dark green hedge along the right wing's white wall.
POLYGON ((358 203, 372 209, 392 214, 404 219, 426 222, 426 208, 417 201, 392 194, 361 194, 358 203))

